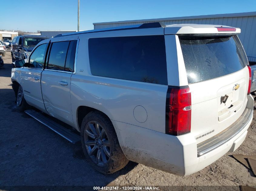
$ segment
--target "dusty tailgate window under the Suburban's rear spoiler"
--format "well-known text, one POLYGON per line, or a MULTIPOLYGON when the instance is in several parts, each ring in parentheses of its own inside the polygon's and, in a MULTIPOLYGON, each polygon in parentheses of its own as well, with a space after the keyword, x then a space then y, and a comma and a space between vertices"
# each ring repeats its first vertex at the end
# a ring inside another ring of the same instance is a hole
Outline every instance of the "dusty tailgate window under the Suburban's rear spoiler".
POLYGON ((210 80, 245 67, 233 37, 179 37, 188 83, 210 80))

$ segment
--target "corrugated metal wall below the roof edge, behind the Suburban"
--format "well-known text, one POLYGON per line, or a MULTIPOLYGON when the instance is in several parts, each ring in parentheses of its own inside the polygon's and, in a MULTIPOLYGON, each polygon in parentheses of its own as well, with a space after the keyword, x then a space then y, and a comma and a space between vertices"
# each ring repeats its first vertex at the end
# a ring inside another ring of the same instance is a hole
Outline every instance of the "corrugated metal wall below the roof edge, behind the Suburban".
MULTIPOLYGON (((189 18, 189 17, 188 17, 189 18)), ((171 19, 171 18, 170 18, 171 19)), ((157 22, 144 21, 144 22, 118 22, 118 23, 105 23, 105 24, 94 24, 95 29, 119 27, 125 25, 135 25, 157 22)), ((198 18, 198 19, 182 19, 182 20, 164 20, 164 24, 219 24, 227 25, 231 27, 241 28, 241 34, 239 38, 244 46, 245 52, 248 56, 249 61, 256 61, 256 15, 254 16, 241 16, 241 17, 219 17, 219 18, 198 18)))

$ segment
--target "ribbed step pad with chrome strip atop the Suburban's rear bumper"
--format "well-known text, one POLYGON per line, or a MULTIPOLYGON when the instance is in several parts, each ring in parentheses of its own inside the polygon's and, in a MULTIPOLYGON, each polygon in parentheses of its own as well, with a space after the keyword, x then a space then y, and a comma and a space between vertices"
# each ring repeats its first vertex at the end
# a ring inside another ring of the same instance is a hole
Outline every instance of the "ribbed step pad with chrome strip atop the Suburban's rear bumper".
POLYGON ((242 115, 228 128, 224 131, 218 133, 217 135, 201 142, 197 145, 197 157, 213 151, 214 149, 220 147, 221 145, 228 142, 231 138, 236 136, 241 132, 245 126, 250 122, 250 119, 253 115, 253 110, 245 108, 242 115))

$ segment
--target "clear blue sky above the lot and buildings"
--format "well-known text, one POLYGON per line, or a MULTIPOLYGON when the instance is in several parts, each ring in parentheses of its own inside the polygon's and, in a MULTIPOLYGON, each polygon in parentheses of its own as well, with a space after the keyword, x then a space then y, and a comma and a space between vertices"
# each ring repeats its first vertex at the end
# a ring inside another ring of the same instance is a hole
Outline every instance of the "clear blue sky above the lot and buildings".
MULTIPOLYGON (((77 30, 77 0, 26 0, 2 6, 0 29, 77 30), (9 14, 6 14, 9 13, 9 14)), ((80 30, 92 23, 256 11, 255 0, 80 0, 80 30)))

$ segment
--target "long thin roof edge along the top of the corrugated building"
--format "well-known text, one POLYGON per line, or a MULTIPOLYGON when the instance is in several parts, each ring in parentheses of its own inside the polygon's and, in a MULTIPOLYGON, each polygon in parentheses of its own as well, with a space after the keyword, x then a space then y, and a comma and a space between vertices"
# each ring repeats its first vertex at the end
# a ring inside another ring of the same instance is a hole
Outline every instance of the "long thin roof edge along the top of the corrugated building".
POLYGON ((95 25, 95 24, 131 23, 131 22, 151 22, 151 21, 156 22, 156 21, 184 20, 184 19, 248 17, 248 16, 256 16, 256 11, 245 12, 245 13, 209 14, 209 15, 198 15, 198 16, 186 16, 186 17, 170 17, 170 18, 141 19, 141 20, 130 20, 130 21, 101 22, 101 23, 93 23, 93 25, 95 25))

